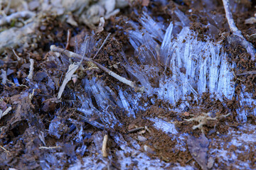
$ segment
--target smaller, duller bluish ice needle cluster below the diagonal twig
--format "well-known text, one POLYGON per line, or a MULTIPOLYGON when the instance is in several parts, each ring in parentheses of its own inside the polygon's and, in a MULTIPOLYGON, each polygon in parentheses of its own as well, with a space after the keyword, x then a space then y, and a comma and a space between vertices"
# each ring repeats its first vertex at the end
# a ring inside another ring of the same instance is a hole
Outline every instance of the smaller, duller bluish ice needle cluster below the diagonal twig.
POLYGON ((119 94, 116 95, 110 87, 104 85, 102 80, 96 80, 95 78, 91 80, 84 79, 84 81, 86 96, 78 96, 82 101, 82 108, 78 108, 78 111, 84 113, 82 118, 87 123, 100 129, 105 127, 114 128, 114 125, 117 124, 122 125, 114 114, 117 107, 127 111, 127 116, 135 118, 134 110, 139 109, 139 106, 136 108, 138 96, 134 98, 132 94, 122 91, 122 89, 119 89, 119 94), (92 100, 95 101, 97 106, 92 100), (102 123, 90 120, 92 115, 95 114, 100 117, 102 123))

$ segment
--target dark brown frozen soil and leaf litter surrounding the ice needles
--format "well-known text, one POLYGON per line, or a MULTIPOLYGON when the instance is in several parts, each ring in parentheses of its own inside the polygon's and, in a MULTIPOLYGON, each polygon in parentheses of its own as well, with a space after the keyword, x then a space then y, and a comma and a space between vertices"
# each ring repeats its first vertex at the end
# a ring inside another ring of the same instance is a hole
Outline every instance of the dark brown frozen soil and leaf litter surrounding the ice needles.
MULTIPOLYGON (((221 1, 216 3, 218 8, 214 13, 225 17, 221 1)), ((245 18, 250 18, 255 13, 256 4, 253 3, 245 3, 247 11, 236 8, 233 17, 242 34, 255 47, 256 38, 250 39, 248 36, 256 33, 255 24, 244 23, 245 18)), ((176 7, 186 14, 188 9, 194 9, 189 13, 192 21, 190 28, 198 33, 198 39, 204 40, 210 33, 209 28, 202 25, 208 20, 206 16, 209 11, 201 10, 206 6, 191 4, 189 1, 170 1, 163 6, 160 2, 150 1, 145 9, 142 1, 138 1, 122 9, 117 17, 112 16, 106 21, 105 30, 93 35, 97 43, 88 57, 93 57, 107 33, 112 33, 94 60, 113 72, 132 79, 120 64, 124 60, 121 50, 128 59, 134 54, 127 35, 133 28, 127 21, 138 22, 142 11, 147 10, 152 12, 152 18, 156 21, 159 19, 168 26, 175 19, 172 9, 176 7)), ((238 69, 234 70, 237 75, 234 79, 235 92, 239 94, 241 86, 245 85, 245 91, 252 93, 255 98, 256 74, 240 74, 255 71, 255 62, 250 60, 250 55, 239 44, 228 41, 232 35, 225 19, 221 24, 223 28, 212 39, 215 42, 223 40, 230 57, 229 62, 237 64, 238 69)), ((113 128, 107 125, 97 127, 82 118, 82 113, 77 111, 82 102, 76 96, 86 94, 83 78, 102 79, 116 95, 119 88, 133 90, 105 72, 88 67, 78 70, 78 81, 75 84, 70 81, 63 92, 62 102, 56 103, 55 97, 65 77, 69 60, 65 56, 53 57, 55 54, 49 52, 50 45, 65 48, 70 30, 72 35, 68 50, 74 51, 76 43, 82 42, 86 33, 91 33, 91 30, 84 25, 74 28, 53 16, 45 21, 44 26, 37 30, 37 34, 41 35, 37 47, 16 49, 21 61, 17 61, 10 49, 6 49, 6 56, 1 56, 1 69, 6 70, 10 81, 0 86, 0 108, 2 111, 10 106, 12 108, 0 121, 1 169, 256 168, 255 117, 248 116, 247 123, 240 123, 235 112, 239 101, 235 97, 220 102, 213 101, 209 94, 204 94, 203 104, 198 106, 191 103, 191 108, 184 108, 181 112, 172 111, 174 106, 159 100, 157 96, 140 98, 139 106, 149 107, 137 111, 136 118, 127 117, 127 111, 123 108, 111 108, 122 126, 117 124, 113 128), (26 78, 30 69, 29 58, 36 61, 31 80, 26 78), (202 119, 198 120, 200 116, 202 119), (201 122, 204 123, 201 128, 193 128, 201 122), (55 125, 54 129, 51 129, 52 125, 55 125), (107 158, 102 157, 101 151, 104 135, 109 137, 107 158)), ((171 70, 167 71, 171 74, 171 70)), ((97 102, 92 100, 92 103, 97 102)), ((100 122, 100 115, 93 115, 89 121, 94 120, 100 122)))

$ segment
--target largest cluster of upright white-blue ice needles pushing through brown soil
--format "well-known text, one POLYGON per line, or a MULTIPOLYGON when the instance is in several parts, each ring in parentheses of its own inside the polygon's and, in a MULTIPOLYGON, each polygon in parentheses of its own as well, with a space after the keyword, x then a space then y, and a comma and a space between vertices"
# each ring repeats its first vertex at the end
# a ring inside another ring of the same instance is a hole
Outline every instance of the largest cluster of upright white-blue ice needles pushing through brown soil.
POLYGON ((233 65, 227 62, 222 45, 208 38, 197 40, 197 33, 188 26, 184 26, 174 37, 173 32, 177 31, 170 23, 164 33, 164 26, 154 22, 146 13, 140 21, 144 29, 135 27, 136 30, 129 32, 139 63, 133 62, 133 65, 127 64, 126 67, 145 86, 147 94, 157 94, 174 105, 179 100, 186 101, 186 96, 190 94, 200 102, 204 92, 209 92, 220 101, 233 97, 233 73, 230 71, 233 65), (161 42, 161 46, 157 41, 161 42), (160 67, 164 67, 163 72, 159 72, 160 67), (138 68, 143 71, 139 72, 138 68), (171 74, 166 74, 166 69, 170 69, 171 74), (149 81, 151 78, 159 79, 157 87, 149 81))

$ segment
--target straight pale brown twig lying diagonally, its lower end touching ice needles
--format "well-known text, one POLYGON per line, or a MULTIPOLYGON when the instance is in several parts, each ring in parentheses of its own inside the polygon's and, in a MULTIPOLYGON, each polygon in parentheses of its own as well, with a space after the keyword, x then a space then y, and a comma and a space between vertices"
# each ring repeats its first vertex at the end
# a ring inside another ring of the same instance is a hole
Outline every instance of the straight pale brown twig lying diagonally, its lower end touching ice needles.
MULTIPOLYGON (((64 55, 67 55, 68 57, 82 59, 82 55, 78 55, 75 52, 70 52, 69 50, 65 50, 63 48, 56 47, 55 45, 51 45, 50 50, 53 52, 60 52, 64 55)), ((131 86, 132 88, 134 88, 134 91, 137 91, 137 92, 144 91, 144 86, 142 86, 142 87, 136 86, 133 81, 130 81, 128 79, 125 79, 124 77, 119 76, 118 74, 112 72, 110 69, 107 69, 106 67, 102 66, 102 64, 95 62, 94 60, 92 60, 88 57, 83 57, 83 59, 87 62, 92 62, 93 64, 97 65, 97 67, 102 69, 104 72, 106 72, 110 76, 114 77, 115 79, 118 79, 119 81, 121 81, 124 84, 127 84, 128 86, 131 86)))

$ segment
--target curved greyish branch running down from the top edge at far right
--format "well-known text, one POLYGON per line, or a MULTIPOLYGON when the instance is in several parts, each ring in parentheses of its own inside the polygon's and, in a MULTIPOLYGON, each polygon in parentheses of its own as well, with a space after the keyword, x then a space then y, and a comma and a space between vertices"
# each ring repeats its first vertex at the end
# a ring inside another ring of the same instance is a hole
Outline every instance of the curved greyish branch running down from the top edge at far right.
POLYGON ((225 16, 228 20, 228 25, 230 26, 230 30, 233 33, 233 35, 237 35, 242 39, 241 45, 242 47, 245 47, 247 52, 251 55, 251 60, 255 60, 256 52, 255 48, 252 46, 252 43, 247 42, 247 40, 242 36, 242 33, 238 28, 235 26, 235 21, 233 20, 232 13, 230 11, 230 2, 229 0, 223 0, 223 6, 225 8, 225 16))

